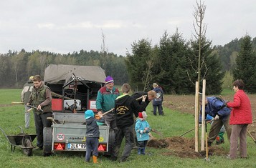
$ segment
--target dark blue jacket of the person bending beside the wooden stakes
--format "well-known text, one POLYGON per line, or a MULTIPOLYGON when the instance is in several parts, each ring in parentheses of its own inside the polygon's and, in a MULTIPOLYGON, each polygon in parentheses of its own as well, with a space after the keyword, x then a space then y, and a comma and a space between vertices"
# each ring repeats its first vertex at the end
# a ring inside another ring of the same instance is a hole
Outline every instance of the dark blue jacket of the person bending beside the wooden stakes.
MULTIPOLYGON (((231 109, 226 107, 226 103, 217 97, 207 97, 207 105, 205 106, 205 113, 209 114, 212 117, 215 117, 217 114, 220 119, 224 121, 227 120, 227 117, 230 115, 231 109)), ((201 107, 202 110, 202 107, 201 107)))

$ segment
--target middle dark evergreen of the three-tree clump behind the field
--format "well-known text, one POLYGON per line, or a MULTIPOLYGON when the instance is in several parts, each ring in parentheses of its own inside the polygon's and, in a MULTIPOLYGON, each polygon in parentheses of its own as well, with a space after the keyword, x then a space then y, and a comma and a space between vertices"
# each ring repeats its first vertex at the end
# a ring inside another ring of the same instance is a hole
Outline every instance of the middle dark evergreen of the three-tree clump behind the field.
POLYGON ((189 78, 186 75, 188 67, 186 55, 189 50, 188 44, 178 30, 172 36, 165 31, 158 50, 158 60, 161 61, 161 66, 155 66, 154 69, 161 69, 158 75, 161 76, 158 78, 161 87, 165 89, 166 93, 188 93, 189 78))

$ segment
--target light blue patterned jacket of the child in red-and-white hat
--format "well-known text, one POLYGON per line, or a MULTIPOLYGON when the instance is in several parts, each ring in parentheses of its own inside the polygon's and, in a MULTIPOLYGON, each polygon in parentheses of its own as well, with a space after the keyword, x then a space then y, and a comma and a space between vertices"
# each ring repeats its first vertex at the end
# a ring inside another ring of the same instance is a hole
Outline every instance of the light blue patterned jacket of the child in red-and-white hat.
POLYGON ((149 126, 146 120, 137 119, 135 124, 136 137, 138 141, 147 141, 149 140, 148 132, 151 131, 151 127, 149 126), (143 130, 148 127, 146 132, 143 130))

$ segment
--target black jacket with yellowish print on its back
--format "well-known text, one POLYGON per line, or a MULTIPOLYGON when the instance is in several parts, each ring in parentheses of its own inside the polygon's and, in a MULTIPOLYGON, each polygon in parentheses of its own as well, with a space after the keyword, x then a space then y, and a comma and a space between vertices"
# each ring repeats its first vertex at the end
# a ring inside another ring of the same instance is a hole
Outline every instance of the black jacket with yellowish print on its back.
POLYGON ((134 123, 133 113, 138 117, 138 112, 146 109, 146 102, 138 101, 129 95, 120 96, 115 99, 115 115, 118 128, 128 127, 134 123))

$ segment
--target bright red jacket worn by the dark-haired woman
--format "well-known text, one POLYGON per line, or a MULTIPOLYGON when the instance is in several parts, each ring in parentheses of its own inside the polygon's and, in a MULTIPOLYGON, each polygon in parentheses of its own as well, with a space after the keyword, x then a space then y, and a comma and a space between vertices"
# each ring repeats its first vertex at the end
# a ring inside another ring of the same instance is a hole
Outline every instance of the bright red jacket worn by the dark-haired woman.
POLYGON ((232 107, 229 124, 252 124, 252 108, 249 97, 243 90, 237 90, 234 94, 234 102, 227 102, 232 107))

